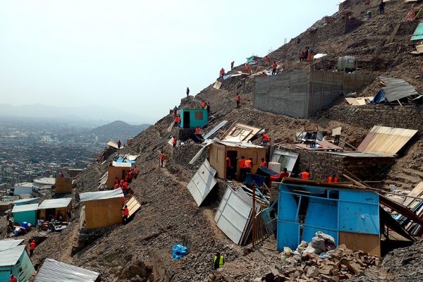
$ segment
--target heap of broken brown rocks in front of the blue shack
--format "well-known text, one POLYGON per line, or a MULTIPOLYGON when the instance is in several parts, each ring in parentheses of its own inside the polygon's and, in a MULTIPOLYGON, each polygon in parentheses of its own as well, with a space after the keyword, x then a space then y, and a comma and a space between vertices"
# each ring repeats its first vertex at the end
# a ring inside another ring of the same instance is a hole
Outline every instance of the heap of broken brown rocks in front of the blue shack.
POLYGON ((268 274, 255 281, 345 281, 377 265, 379 257, 361 251, 354 252, 345 245, 339 245, 335 250, 327 252, 324 259, 308 252, 288 257, 282 267, 271 267, 268 274))

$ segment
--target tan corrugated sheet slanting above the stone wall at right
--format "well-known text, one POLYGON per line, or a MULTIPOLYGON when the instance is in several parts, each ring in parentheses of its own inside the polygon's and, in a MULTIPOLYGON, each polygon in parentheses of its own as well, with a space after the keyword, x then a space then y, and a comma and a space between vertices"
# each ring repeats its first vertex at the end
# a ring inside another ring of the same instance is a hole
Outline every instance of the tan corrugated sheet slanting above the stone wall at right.
POLYGON ((364 138, 358 151, 372 154, 396 154, 417 130, 375 125, 364 138))

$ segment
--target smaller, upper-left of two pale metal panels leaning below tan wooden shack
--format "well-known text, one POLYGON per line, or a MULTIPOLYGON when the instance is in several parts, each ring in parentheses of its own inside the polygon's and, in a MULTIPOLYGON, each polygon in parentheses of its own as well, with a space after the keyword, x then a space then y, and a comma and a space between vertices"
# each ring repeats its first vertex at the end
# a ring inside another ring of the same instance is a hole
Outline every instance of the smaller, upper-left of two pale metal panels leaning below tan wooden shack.
POLYGON ((192 176, 190 183, 188 183, 188 190, 192 197, 194 197, 197 206, 209 195, 214 185, 216 185, 216 170, 210 166, 209 161, 204 160, 204 163, 198 168, 198 171, 192 176))

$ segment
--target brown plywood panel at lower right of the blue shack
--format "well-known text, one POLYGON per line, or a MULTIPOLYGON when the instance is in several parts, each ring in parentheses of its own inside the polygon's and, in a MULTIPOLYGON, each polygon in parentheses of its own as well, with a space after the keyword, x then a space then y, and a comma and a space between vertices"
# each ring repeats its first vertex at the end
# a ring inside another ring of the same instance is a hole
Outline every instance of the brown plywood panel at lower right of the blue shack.
POLYGON ((381 256, 379 235, 339 232, 339 245, 345 244, 350 250, 361 250, 371 255, 381 256))

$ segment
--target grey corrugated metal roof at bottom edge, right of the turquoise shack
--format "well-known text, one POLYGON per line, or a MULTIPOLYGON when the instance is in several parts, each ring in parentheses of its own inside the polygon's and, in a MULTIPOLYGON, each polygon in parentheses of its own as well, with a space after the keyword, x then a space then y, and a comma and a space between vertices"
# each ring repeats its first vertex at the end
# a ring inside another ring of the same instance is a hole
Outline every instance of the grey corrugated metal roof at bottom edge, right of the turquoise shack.
POLYGON ((100 274, 78 266, 44 259, 34 282, 94 282, 100 274))

